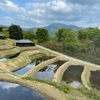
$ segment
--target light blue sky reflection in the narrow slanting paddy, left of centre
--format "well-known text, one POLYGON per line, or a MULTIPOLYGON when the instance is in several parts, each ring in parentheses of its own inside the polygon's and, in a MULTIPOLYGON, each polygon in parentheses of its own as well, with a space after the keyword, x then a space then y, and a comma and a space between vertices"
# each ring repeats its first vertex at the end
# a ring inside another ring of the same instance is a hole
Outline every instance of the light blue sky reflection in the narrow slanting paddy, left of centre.
POLYGON ((15 73, 16 74, 19 74, 19 75, 23 75, 25 74, 26 72, 28 72, 32 67, 35 66, 35 62, 31 63, 31 64, 28 64, 27 66, 25 66, 24 68, 16 71, 15 73))

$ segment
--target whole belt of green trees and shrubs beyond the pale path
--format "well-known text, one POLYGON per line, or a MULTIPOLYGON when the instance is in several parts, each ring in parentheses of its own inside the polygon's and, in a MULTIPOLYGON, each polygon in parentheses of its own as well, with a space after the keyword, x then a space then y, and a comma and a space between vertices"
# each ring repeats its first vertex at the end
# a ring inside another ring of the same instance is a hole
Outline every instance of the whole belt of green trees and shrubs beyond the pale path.
POLYGON ((55 37, 51 37, 50 32, 44 28, 22 31, 19 25, 11 25, 8 30, 2 30, 6 38, 29 39, 66 55, 100 64, 100 29, 97 27, 80 30, 60 28, 53 33, 55 37))

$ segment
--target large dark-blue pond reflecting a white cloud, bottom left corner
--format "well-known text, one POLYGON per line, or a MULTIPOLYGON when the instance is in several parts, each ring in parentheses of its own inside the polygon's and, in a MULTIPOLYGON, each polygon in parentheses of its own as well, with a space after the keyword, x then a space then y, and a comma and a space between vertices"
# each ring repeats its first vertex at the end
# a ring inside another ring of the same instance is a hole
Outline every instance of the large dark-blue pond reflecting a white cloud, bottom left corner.
POLYGON ((19 84, 0 82, 0 100, 48 100, 41 94, 19 84))

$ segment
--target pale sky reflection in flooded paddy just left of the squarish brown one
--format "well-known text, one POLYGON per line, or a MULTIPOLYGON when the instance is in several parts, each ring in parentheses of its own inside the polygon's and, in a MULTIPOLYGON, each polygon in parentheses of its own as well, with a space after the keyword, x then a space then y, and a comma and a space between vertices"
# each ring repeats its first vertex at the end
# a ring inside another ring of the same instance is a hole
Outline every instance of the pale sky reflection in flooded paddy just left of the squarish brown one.
POLYGON ((56 69, 57 65, 51 64, 42 72, 38 72, 35 75, 35 78, 45 79, 45 80, 52 80, 54 76, 54 70, 56 69))

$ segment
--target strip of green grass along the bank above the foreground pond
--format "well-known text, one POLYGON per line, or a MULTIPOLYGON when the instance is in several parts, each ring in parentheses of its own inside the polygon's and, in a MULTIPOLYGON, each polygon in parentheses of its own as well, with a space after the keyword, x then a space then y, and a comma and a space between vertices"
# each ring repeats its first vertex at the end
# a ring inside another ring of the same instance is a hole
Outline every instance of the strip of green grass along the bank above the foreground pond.
MULTIPOLYGON (((72 88, 70 87, 68 84, 63 84, 63 83, 57 83, 57 82, 52 82, 52 81, 48 81, 48 80, 42 80, 42 79, 33 79, 31 77, 23 77, 23 79, 27 79, 27 80, 31 80, 31 81, 37 81, 37 82, 41 82, 41 83, 45 83, 45 84, 49 84, 54 86, 55 88, 63 91, 64 93, 75 93, 75 92, 79 92, 82 95, 84 95, 85 97, 89 98, 90 100, 100 100, 100 92, 97 90, 87 90, 87 89, 83 89, 83 88, 72 88), (71 92, 74 91, 74 92, 71 92)), ((79 96, 80 94, 76 94, 76 96, 79 96)), ((76 99, 73 99, 76 100, 76 99)))

